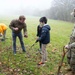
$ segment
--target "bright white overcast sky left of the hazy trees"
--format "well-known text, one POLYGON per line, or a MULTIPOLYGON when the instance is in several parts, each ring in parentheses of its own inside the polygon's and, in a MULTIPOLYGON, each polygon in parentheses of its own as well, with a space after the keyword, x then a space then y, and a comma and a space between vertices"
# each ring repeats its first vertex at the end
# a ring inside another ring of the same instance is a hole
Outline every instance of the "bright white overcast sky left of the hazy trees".
POLYGON ((0 14, 8 14, 17 10, 50 8, 52 0, 0 0, 0 14))

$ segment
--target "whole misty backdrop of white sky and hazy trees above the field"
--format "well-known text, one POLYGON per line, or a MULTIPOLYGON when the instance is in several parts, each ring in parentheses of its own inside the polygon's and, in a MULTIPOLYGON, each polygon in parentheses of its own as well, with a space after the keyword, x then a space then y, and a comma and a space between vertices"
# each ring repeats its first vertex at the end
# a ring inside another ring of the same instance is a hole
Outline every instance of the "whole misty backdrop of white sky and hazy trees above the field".
POLYGON ((46 16, 74 22, 75 0, 0 0, 0 16, 46 16))

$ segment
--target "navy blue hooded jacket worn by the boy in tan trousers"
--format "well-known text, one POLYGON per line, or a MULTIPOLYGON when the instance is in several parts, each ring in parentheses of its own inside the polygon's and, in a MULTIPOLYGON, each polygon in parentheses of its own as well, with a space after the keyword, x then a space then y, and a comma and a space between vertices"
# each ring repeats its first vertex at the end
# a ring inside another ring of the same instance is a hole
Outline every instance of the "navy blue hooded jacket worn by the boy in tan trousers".
POLYGON ((38 39, 42 44, 48 44, 50 42, 50 30, 51 28, 48 24, 42 27, 41 36, 38 39))

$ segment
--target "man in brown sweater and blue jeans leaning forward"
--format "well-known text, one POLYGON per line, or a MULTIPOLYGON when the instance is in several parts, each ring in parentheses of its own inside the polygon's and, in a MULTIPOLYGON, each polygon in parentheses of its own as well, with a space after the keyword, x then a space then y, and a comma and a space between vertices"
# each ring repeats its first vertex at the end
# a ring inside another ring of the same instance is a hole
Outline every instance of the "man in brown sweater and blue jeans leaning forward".
POLYGON ((18 20, 12 20, 9 28, 12 30, 12 40, 13 40, 13 53, 16 55, 16 37, 19 38, 20 43, 21 43, 21 47, 23 52, 26 52, 26 49, 24 47, 24 43, 23 43, 23 37, 22 37, 22 29, 24 32, 24 37, 28 37, 27 35, 27 25, 25 23, 26 18, 21 15, 19 16, 18 20))

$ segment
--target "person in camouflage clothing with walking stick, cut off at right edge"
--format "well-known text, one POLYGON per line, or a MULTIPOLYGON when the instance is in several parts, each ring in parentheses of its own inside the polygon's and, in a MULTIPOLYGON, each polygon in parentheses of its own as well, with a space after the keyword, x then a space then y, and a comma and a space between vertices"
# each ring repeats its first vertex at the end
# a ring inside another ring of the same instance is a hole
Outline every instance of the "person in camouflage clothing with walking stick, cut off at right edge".
MULTIPOLYGON (((75 9, 72 13, 75 17, 75 9)), ((68 71, 72 71, 72 74, 75 74, 75 25, 70 36, 70 42, 65 45, 65 48, 68 50, 67 61, 70 66, 68 71)))

